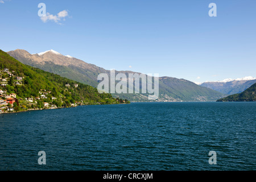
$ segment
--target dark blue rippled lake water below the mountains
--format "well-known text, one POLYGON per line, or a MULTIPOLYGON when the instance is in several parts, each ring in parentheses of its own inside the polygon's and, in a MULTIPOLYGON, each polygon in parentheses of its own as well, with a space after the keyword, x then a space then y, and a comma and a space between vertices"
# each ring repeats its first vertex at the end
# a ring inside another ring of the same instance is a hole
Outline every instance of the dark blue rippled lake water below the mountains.
POLYGON ((0 115, 0 170, 255 170, 256 102, 79 106, 0 115), (46 165, 38 152, 46 152, 46 165), (216 151, 217 164, 208 163, 216 151))

